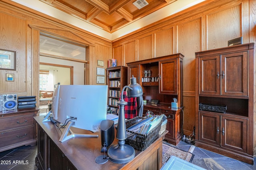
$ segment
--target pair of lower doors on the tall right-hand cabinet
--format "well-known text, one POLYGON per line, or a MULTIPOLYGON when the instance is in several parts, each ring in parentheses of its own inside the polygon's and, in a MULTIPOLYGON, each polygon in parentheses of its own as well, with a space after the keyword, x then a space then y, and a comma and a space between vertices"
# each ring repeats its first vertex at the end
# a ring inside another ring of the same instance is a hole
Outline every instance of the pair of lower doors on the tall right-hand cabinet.
POLYGON ((247 152, 248 118, 199 112, 199 140, 247 152))

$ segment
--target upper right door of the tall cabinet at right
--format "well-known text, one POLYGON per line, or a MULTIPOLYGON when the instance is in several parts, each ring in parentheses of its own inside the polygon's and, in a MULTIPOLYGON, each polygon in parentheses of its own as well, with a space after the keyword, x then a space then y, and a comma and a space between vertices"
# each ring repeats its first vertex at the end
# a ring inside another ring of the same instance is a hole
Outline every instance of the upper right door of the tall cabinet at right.
POLYGON ((247 52, 222 55, 222 95, 248 96, 247 68, 247 52))

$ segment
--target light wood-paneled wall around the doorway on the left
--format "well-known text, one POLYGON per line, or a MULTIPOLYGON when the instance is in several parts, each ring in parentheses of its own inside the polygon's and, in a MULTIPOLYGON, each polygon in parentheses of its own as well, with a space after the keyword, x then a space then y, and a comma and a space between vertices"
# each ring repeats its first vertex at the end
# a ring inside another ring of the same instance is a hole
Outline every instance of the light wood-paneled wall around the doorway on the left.
POLYGON ((56 36, 87 47, 86 84, 96 83, 97 61, 108 67, 112 43, 73 25, 56 20, 10 0, 0 1, 0 49, 16 51, 16 70, 0 70, 0 94, 39 96, 39 35, 56 36), (6 73, 14 82, 5 81, 6 73))

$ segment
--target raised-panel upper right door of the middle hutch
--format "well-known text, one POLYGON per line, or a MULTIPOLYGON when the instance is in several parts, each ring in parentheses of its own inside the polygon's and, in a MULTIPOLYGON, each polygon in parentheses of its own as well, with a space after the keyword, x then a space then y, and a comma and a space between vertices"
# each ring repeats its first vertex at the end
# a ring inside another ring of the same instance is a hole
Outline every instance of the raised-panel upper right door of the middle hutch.
POLYGON ((160 94, 177 94, 177 60, 159 62, 160 94))

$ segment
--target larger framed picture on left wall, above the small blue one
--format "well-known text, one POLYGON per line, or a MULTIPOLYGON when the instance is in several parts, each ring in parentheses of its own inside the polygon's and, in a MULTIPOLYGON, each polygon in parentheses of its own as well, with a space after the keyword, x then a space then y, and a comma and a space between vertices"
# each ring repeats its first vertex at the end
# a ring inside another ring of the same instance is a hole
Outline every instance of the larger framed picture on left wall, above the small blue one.
POLYGON ((0 49, 0 69, 16 69, 16 51, 0 49))

